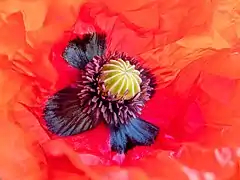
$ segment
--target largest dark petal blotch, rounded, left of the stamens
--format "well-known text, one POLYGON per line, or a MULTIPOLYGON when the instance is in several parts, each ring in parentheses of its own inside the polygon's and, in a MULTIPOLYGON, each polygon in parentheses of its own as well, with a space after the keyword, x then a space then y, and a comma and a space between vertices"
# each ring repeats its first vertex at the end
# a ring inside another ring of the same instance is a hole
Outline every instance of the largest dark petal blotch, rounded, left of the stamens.
POLYGON ((46 103, 44 119, 48 129, 59 136, 75 135, 96 127, 99 123, 83 112, 79 89, 67 87, 53 95, 46 103))

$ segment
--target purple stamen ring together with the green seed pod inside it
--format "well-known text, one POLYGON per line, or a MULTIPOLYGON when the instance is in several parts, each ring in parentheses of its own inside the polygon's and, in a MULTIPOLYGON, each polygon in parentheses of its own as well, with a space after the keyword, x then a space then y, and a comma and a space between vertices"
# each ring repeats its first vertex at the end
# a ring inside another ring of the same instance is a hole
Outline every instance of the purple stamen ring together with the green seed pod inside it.
POLYGON ((144 72, 144 69, 134 63, 134 59, 125 55, 94 57, 86 65, 84 75, 78 83, 81 89, 78 94, 80 106, 96 120, 103 119, 109 125, 127 123, 141 114, 144 104, 152 94, 151 77, 144 72), (127 75, 122 73, 127 70, 131 72, 130 83, 124 81, 127 75), (108 78, 114 81, 105 84, 108 78), (133 85, 137 87, 134 90, 133 85))

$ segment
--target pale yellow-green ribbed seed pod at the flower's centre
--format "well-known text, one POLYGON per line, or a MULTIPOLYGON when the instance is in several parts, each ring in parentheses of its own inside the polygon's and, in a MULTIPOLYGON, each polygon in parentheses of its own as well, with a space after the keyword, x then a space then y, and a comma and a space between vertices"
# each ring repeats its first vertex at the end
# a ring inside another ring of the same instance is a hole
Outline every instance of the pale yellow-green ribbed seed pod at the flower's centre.
POLYGON ((110 93, 117 100, 129 100, 141 91, 140 72, 129 61, 110 60, 103 65, 99 79, 104 85, 102 92, 110 93))

